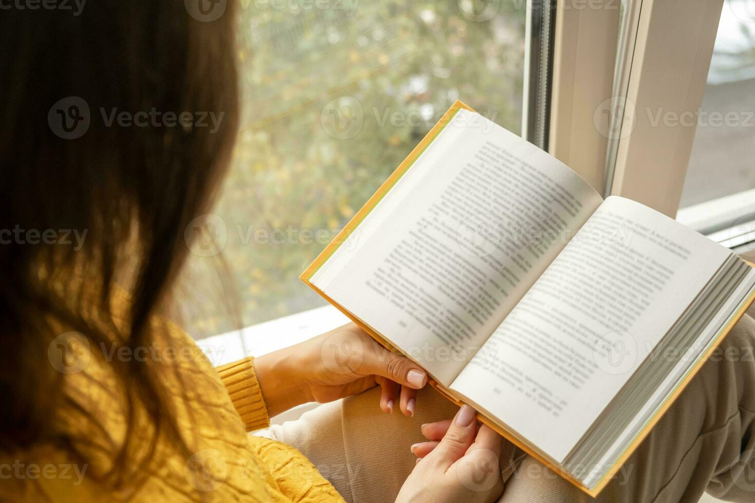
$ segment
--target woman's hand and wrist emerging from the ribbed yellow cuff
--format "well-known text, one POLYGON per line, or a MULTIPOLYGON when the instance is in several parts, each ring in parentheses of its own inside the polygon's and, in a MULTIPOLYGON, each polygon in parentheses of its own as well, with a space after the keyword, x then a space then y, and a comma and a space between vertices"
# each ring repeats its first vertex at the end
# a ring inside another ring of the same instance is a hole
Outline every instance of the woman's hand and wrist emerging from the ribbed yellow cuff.
POLYGON ((276 416, 300 403, 330 402, 381 385, 380 406, 390 413, 400 394, 400 409, 414 414, 427 373, 394 354, 355 324, 254 359, 254 373, 267 405, 276 416))

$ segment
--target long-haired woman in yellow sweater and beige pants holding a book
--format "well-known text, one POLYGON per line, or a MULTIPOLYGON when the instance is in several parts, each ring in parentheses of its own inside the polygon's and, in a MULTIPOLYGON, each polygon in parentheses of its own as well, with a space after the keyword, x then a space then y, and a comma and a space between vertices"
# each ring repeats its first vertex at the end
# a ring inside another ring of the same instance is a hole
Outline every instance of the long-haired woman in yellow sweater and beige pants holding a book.
MULTIPOLYGON (((166 321, 239 106, 235 2, 192 1, 0 5, 0 500, 586 499, 356 327, 213 369, 166 321), (247 434, 310 400, 331 404, 247 434)), ((751 501, 753 374, 704 367, 601 499, 751 501)))

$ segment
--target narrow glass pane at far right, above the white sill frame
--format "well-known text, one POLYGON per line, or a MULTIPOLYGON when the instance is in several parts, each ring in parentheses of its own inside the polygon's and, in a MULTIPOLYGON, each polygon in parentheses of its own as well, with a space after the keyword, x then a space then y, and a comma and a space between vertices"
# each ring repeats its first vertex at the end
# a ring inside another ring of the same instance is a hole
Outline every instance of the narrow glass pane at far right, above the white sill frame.
POLYGON ((680 207, 755 188, 755 3, 726 0, 680 207))

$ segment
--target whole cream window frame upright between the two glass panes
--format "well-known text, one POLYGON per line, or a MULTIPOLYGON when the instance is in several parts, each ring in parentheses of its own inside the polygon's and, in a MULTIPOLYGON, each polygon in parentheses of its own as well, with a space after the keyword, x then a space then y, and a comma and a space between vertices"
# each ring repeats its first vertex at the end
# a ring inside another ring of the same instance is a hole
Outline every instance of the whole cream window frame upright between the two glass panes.
POLYGON ((616 2, 558 2, 548 150, 604 196, 674 217, 695 127, 654 119, 701 106, 724 0, 616 2), (606 100, 625 112, 601 131, 606 100))

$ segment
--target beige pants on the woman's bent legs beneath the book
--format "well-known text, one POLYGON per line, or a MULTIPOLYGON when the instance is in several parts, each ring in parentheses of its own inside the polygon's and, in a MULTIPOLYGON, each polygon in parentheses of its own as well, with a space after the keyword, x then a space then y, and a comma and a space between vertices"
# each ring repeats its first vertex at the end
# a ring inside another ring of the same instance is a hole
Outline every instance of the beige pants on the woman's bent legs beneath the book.
MULTIPOLYGON (((755 501, 755 321, 745 316, 598 501, 690 501, 704 491, 755 501)), ((394 501, 414 468, 420 425, 454 416, 456 407, 426 387, 417 413, 382 413, 379 391, 319 406, 264 436, 309 458, 346 501, 394 501)), ((589 397, 585 398, 589 400, 589 397)), ((593 501, 524 452, 504 444, 501 501, 593 501)))

